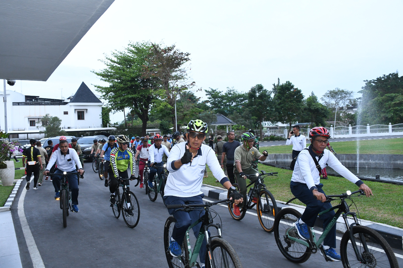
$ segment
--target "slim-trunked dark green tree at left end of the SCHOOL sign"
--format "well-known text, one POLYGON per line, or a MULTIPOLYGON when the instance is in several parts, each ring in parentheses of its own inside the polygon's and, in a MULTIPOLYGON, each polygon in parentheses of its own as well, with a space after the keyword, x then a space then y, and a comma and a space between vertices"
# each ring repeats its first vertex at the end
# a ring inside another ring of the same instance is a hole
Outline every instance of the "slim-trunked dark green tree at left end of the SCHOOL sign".
POLYGON ((270 91, 265 89, 262 84, 251 87, 247 93, 249 109, 253 110, 256 121, 260 129, 260 139, 263 138, 262 122, 265 118, 272 118, 274 113, 272 107, 272 97, 270 91))

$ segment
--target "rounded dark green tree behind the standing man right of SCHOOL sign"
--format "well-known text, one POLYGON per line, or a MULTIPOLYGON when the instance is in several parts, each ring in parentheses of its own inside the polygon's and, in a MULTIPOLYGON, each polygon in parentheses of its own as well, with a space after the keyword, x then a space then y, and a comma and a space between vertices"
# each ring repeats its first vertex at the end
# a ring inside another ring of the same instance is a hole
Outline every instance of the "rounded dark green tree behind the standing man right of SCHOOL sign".
POLYGON ((287 81, 280 85, 278 80, 277 85, 273 84, 273 103, 278 122, 291 125, 296 122, 303 108, 303 95, 301 90, 294 87, 294 85, 287 81))

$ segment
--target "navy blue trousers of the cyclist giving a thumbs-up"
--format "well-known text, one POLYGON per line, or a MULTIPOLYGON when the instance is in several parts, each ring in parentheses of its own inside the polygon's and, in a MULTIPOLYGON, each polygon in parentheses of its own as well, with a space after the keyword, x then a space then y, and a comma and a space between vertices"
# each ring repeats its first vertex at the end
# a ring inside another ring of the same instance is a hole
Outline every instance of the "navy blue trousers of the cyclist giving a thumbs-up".
MULTIPOLYGON (((178 197, 178 196, 164 196, 165 204, 173 205, 173 204, 203 204, 204 194, 199 196, 191 196, 191 197, 178 197)), ((186 231, 189 226, 195 221, 199 220, 201 216, 204 215, 204 210, 202 208, 196 208, 196 210, 192 210, 191 212, 185 212, 183 210, 176 209, 168 209, 170 215, 173 215, 177 220, 175 223, 174 229, 172 231, 172 238, 178 242, 179 245, 182 245, 183 238, 186 235, 186 231)), ((199 236, 200 227, 202 227, 202 223, 195 225, 193 229, 193 233, 197 238, 199 236)), ((210 232, 209 232, 210 234, 210 232)), ((185 245, 185 249, 187 250, 187 246, 185 245)), ((204 258, 206 257, 206 238, 203 239, 202 247, 200 247, 199 258, 200 262, 204 262, 204 258)))

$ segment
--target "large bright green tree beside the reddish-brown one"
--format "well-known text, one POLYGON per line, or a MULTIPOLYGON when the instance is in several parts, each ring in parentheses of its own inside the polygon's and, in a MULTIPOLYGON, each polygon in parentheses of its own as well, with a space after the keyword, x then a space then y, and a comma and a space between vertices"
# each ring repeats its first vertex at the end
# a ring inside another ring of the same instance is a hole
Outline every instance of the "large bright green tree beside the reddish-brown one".
POLYGON ((149 58, 153 57, 151 43, 129 43, 123 51, 112 52, 111 57, 103 60, 106 68, 95 72, 108 87, 96 85, 97 91, 104 95, 111 111, 123 111, 129 107, 141 119, 141 135, 145 135, 148 113, 158 99, 158 79, 143 76, 149 68, 149 58))

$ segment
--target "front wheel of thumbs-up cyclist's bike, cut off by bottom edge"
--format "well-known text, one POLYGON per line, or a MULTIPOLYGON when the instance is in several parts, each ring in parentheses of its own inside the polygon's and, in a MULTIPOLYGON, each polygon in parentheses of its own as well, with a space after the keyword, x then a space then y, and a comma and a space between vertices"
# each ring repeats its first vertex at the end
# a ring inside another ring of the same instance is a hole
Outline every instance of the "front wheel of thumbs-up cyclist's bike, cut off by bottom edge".
POLYGON ((210 252, 206 252, 205 262, 206 268, 242 268, 238 254, 222 238, 212 239, 210 252))

